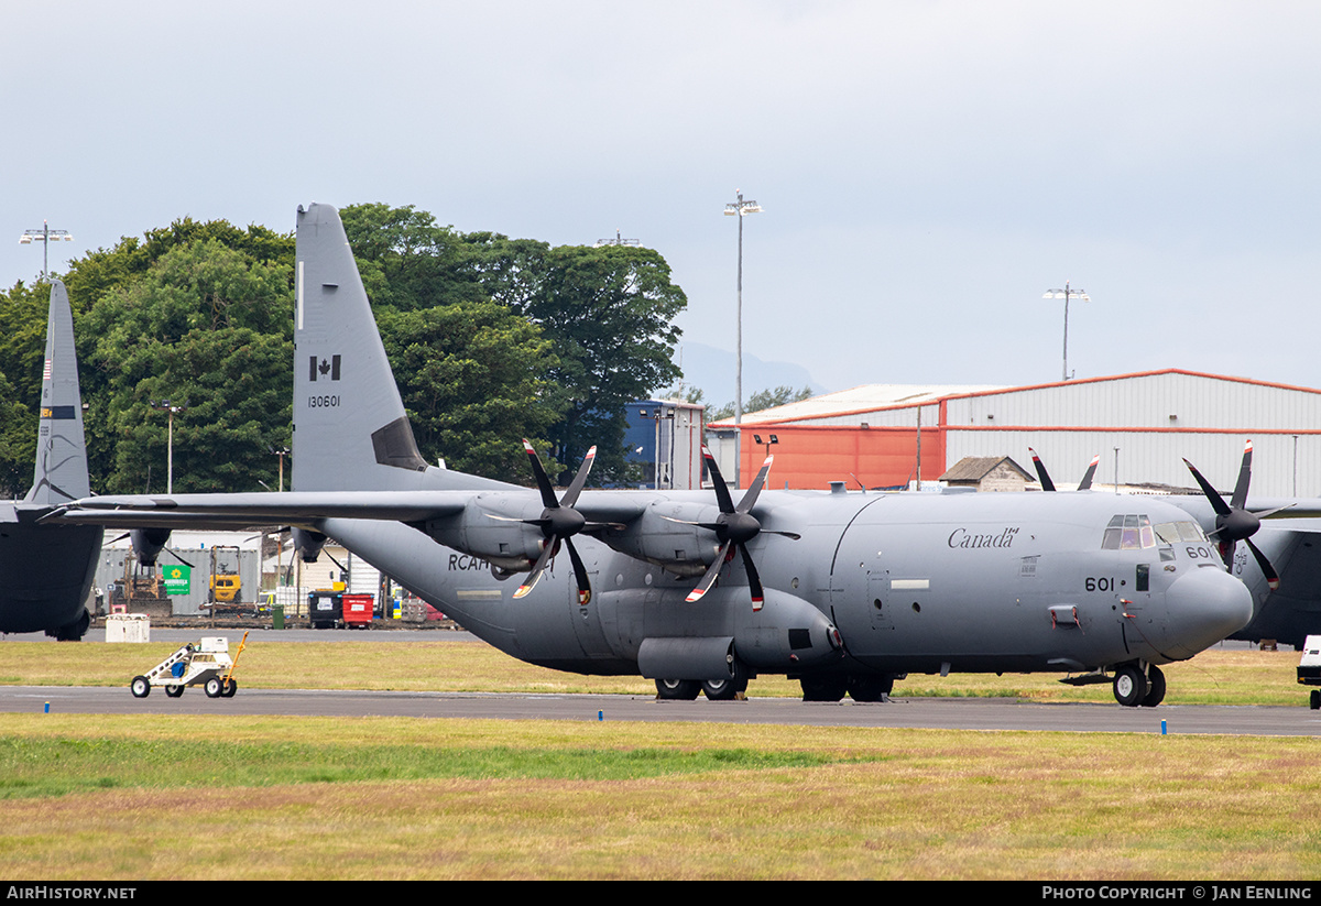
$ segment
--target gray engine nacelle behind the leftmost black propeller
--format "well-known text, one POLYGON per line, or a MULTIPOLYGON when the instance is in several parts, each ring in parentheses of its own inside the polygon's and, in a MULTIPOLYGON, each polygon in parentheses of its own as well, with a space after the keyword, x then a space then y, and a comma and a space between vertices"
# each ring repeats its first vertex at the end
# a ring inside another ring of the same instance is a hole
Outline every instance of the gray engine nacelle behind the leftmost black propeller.
POLYGON ((536 563, 546 536, 519 519, 538 519, 540 501, 527 495, 478 494, 457 516, 431 519, 425 531, 436 541, 509 572, 527 572, 536 563))

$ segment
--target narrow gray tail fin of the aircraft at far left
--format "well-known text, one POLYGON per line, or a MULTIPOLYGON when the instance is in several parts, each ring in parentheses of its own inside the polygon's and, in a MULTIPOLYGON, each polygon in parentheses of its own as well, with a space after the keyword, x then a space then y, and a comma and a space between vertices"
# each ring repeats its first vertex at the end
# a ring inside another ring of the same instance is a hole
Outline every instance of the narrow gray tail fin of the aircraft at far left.
POLYGON ((46 358, 41 372, 41 423, 37 429, 37 465, 28 503, 58 506, 91 494, 87 444, 83 438, 82 391, 69 291, 50 283, 46 314, 46 358))

